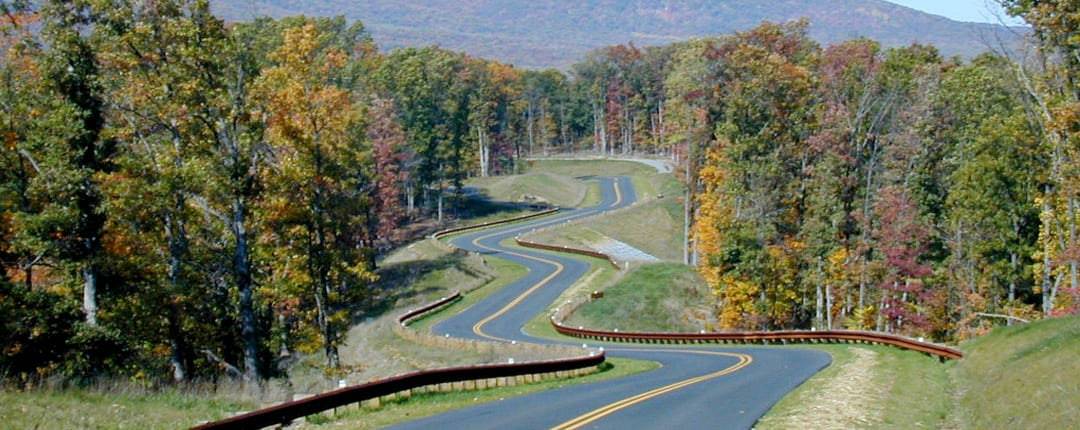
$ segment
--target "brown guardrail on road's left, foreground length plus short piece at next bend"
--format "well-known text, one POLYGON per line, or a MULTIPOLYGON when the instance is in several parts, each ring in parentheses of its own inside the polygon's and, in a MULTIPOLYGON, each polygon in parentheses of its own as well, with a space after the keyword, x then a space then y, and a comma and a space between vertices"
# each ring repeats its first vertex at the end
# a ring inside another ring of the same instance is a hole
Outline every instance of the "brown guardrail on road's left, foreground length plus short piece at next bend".
MULTIPOLYGON (((397 317, 399 325, 420 318, 460 298, 459 293, 444 297, 434 303, 409 310, 397 317)), ((567 348, 570 350, 570 348, 567 348)), ((577 350, 577 349, 575 349, 577 350)), ((540 360, 524 363, 480 364, 470 366, 445 367, 429 371, 411 372, 378 379, 367 384, 340 388, 310 398, 284 402, 246 414, 237 415, 218 421, 195 426, 197 430, 222 429, 258 429, 278 425, 287 425, 295 419, 319 414, 334 408, 379 399, 395 393, 411 393, 411 390, 431 388, 447 391, 447 384, 477 381, 473 387, 501 387, 516 384, 514 377, 525 377, 523 381, 534 381, 532 375, 550 375, 556 377, 578 376, 591 373, 604 363, 604 351, 589 351, 588 354, 568 359, 540 360), (508 380, 508 378, 511 378, 508 380)))

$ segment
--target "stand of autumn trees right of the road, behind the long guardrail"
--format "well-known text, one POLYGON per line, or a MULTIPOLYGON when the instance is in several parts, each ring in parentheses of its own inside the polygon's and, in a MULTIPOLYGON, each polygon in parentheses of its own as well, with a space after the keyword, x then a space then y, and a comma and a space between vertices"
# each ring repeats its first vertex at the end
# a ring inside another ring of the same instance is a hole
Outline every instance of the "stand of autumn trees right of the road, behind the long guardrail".
POLYGON ((806 23, 675 55, 688 259, 723 328, 953 340, 1080 310, 1080 10, 1004 3, 1031 26, 1026 56, 822 48, 806 23))

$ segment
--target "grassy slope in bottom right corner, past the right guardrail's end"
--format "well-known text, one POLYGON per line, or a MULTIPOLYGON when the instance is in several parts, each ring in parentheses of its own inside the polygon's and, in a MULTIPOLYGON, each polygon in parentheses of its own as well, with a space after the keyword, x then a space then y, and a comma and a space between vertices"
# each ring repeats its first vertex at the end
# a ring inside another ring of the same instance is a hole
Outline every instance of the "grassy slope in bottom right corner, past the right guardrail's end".
POLYGON ((1080 428, 1080 317, 999 327, 951 368, 959 427, 1080 428))

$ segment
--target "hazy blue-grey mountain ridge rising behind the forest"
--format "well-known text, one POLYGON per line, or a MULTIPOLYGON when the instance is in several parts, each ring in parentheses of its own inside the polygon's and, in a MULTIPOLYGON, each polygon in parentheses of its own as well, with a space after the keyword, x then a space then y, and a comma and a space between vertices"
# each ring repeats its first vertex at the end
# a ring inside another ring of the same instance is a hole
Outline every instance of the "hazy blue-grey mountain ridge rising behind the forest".
POLYGON ((229 21, 259 15, 361 19, 382 49, 438 44, 522 67, 566 67, 617 43, 663 44, 807 17, 827 44, 868 37, 886 46, 931 43, 973 56, 1017 32, 960 23, 882 0, 212 0, 229 21))

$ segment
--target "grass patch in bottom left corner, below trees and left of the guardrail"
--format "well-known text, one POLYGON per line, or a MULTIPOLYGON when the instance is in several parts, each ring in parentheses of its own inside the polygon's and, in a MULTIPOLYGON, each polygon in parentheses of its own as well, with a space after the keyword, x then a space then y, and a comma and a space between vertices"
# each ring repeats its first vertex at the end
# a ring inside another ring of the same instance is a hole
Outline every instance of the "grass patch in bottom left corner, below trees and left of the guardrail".
POLYGON ((220 419, 257 404, 198 390, 154 392, 67 388, 0 391, 0 428, 177 429, 220 419))

